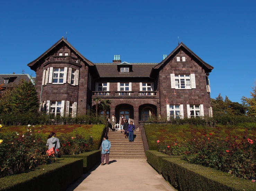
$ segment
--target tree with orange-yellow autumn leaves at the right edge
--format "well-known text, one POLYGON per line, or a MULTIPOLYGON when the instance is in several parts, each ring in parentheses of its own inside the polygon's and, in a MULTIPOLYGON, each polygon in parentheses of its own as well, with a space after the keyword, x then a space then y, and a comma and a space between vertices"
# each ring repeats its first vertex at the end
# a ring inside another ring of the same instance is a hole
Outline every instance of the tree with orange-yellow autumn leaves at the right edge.
POLYGON ((252 87, 251 98, 242 97, 242 103, 248 110, 247 115, 256 116, 256 82, 255 86, 252 87))

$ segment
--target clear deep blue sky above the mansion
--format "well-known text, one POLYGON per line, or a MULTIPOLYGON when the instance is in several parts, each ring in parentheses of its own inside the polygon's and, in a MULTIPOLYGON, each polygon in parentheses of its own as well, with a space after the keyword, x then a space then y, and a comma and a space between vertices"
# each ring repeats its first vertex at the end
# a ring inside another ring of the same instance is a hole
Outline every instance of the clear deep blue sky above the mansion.
POLYGON ((211 97, 249 97, 256 78, 256 2, 2 1, 0 73, 35 73, 26 65, 68 31, 92 62, 160 62, 183 41, 214 69, 211 97))

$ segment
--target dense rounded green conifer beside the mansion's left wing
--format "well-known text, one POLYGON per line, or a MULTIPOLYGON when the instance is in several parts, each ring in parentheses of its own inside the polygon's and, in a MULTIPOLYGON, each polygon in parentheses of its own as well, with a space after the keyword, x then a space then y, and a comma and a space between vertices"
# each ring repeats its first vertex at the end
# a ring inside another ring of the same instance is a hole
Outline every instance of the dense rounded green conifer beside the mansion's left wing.
POLYGON ((12 113, 35 112, 38 106, 36 88, 31 81, 21 79, 16 88, 12 90, 12 113))

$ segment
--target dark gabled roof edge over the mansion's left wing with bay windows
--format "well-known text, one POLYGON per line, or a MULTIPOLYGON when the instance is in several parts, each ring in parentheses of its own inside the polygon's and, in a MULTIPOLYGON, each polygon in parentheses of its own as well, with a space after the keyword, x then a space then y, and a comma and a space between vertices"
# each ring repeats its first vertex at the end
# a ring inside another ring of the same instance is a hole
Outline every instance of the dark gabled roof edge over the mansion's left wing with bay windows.
POLYGON ((28 63, 27 65, 29 67, 32 67, 38 60, 40 60, 41 58, 43 58, 45 56, 46 53, 50 52, 52 49, 54 49, 54 47, 56 47, 58 44, 60 44, 61 42, 65 42, 74 52, 76 52, 84 61, 86 61, 89 66, 94 66, 94 63, 92 63, 91 61, 89 61, 88 59, 86 59, 80 52, 78 52, 67 40, 64 39, 64 37, 62 37, 58 42, 56 42, 55 44, 53 44, 53 46, 51 46, 51 48, 49 48, 48 50, 46 50, 41 56, 39 56, 37 59, 33 60, 32 62, 28 63))

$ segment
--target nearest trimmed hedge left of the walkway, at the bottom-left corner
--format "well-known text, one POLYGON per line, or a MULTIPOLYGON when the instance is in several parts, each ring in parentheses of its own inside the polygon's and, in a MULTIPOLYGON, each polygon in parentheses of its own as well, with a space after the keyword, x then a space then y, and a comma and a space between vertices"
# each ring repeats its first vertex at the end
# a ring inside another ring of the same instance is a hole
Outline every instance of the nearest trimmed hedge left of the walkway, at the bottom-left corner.
POLYGON ((82 176, 82 166, 81 159, 60 159, 33 171, 1 178, 0 191, 62 191, 82 176))

